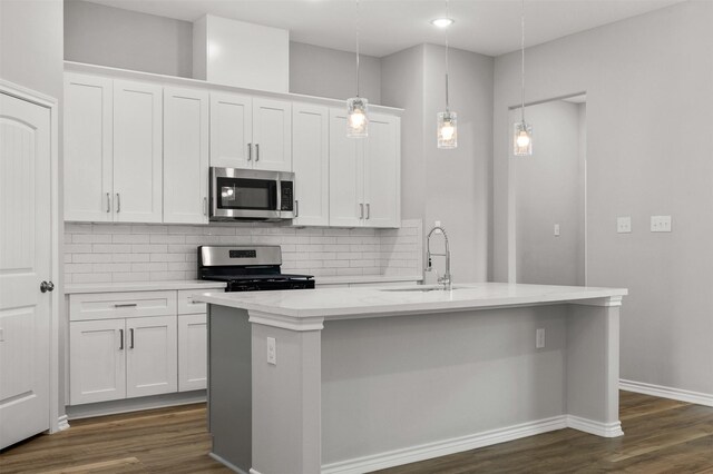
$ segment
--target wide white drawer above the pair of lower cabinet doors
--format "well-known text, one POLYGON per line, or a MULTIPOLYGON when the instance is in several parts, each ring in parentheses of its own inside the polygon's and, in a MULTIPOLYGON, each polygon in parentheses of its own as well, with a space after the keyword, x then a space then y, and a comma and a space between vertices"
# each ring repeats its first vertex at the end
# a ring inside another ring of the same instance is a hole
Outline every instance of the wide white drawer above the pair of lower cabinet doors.
POLYGON ((69 320, 176 314, 176 292, 127 292, 69 295, 69 320))

